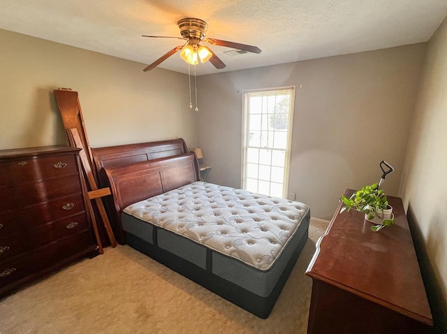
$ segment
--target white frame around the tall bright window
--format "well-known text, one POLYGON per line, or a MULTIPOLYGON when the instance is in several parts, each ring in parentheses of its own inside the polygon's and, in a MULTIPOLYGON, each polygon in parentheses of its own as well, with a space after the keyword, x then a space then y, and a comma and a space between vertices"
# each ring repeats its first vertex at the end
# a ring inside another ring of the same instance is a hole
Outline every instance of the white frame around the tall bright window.
POLYGON ((245 180, 246 180, 246 150, 247 150, 247 125, 248 125, 248 94, 258 93, 263 94, 265 92, 279 92, 281 90, 291 90, 291 113, 290 118, 288 122, 288 138, 287 138, 287 148, 286 148, 286 154, 285 154, 285 161, 284 161, 284 184, 283 184, 283 194, 282 196, 284 198, 287 198, 288 196, 288 183, 289 183, 289 175, 290 175, 290 166, 291 166, 291 151, 292 151, 292 135, 293 135, 293 115, 295 113, 295 91, 296 87, 295 85, 291 86, 283 86, 283 87, 272 87, 272 88, 265 88, 265 89, 245 89, 242 91, 242 150, 241 150, 241 188, 244 189, 245 187, 245 180))

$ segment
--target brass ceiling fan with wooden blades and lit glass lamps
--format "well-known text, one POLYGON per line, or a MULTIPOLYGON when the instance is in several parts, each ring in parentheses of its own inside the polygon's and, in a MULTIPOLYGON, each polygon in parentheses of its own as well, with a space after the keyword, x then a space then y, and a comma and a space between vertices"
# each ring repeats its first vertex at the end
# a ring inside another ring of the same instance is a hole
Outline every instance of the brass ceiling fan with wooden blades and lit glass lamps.
POLYGON ((216 38, 205 38, 208 24, 207 22, 200 19, 186 17, 182 20, 179 20, 179 22, 177 22, 177 25, 179 26, 180 35, 182 35, 182 37, 142 35, 142 37, 177 38, 186 41, 184 45, 176 46, 175 48, 173 48, 173 50, 168 51, 166 55, 161 56, 159 59, 147 66, 143 71, 151 71, 153 68, 159 66, 159 64, 161 64, 163 61, 174 55, 176 52, 179 52, 180 50, 182 50, 182 52, 180 53, 180 57, 182 57, 182 59, 184 59, 184 61, 186 61, 186 63, 188 64, 196 65, 198 64, 198 61, 200 59, 200 61, 203 63, 209 60, 215 68, 224 68, 226 64, 224 64, 223 61, 221 61, 221 59, 217 57, 217 55, 212 52, 212 50, 206 45, 200 45, 200 42, 208 43, 210 45, 226 46, 227 48, 233 48, 247 52, 261 53, 261 49, 256 46, 221 41, 220 39, 216 38))

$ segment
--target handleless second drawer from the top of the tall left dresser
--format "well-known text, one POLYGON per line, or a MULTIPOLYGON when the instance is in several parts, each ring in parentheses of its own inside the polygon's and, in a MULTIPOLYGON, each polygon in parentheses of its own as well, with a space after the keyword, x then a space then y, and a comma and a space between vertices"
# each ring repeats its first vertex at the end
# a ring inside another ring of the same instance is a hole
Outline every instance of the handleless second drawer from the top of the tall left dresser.
POLYGON ((21 184, 0 189, 0 212, 66 197, 67 194, 81 194, 79 175, 57 177, 45 182, 21 184))

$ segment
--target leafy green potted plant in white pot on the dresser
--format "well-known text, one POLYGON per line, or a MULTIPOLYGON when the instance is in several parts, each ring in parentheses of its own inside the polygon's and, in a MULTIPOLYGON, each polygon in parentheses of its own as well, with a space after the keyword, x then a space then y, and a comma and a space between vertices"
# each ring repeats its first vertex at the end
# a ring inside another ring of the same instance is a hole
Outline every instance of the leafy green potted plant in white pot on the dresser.
POLYGON ((393 208, 388 204, 386 194, 379 189, 377 183, 355 191, 350 198, 343 195, 342 202, 344 207, 340 212, 351 209, 364 212, 365 219, 375 224, 371 226, 371 230, 374 232, 394 223, 393 208))

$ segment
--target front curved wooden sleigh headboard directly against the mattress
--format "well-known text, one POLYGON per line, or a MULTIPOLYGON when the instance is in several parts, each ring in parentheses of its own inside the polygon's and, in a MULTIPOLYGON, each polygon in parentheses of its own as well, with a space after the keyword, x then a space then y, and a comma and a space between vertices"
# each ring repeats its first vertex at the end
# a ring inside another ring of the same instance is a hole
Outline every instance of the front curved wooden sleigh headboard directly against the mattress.
POLYGON ((115 238, 120 244, 126 242, 121 225, 121 213, 126 206, 200 180, 198 161, 193 153, 102 168, 100 173, 101 180, 106 182, 105 187, 112 191, 112 196, 106 198, 106 205, 115 238))

